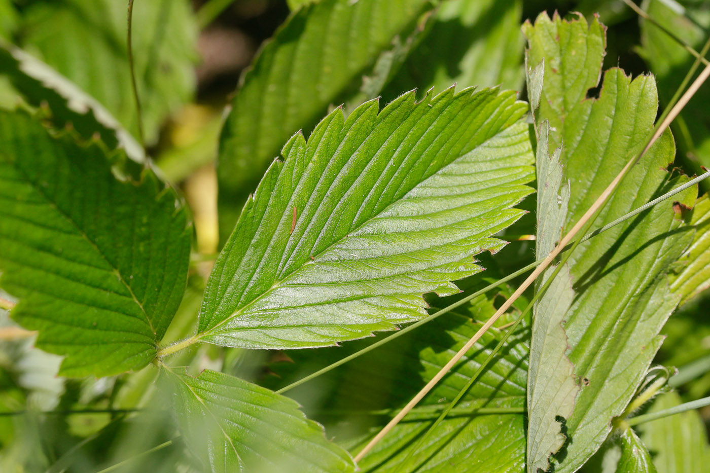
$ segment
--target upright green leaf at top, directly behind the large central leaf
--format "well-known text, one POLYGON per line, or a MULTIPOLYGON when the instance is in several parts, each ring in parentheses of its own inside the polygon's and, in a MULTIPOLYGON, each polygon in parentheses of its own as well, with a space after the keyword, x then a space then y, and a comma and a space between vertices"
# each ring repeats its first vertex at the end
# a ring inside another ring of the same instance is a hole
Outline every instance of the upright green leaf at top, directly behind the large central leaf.
MULTIPOLYGON (((322 0, 295 11, 263 45, 241 78, 219 143, 225 239, 283 143, 298 130, 308 135, 332 104, 359 95, 363 76, 393 42, 406 43, 430 7, 430 0, 322 0)), ((365 99, 379 93, 368 92, 365 99)))

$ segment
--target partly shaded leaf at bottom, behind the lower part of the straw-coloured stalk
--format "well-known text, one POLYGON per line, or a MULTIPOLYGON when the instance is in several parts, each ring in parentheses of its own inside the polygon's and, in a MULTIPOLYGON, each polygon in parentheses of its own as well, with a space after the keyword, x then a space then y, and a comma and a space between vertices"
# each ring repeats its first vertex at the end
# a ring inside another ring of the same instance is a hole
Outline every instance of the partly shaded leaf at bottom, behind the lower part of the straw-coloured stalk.
MULTIPOLYGON (((439 317, 430 322, 427 329, 413 332, 353 361, 357 366, 351 366, 348 378, 342 381, 339 391, 359 391, 360 388, 355 389, 355 386, 364 385, 368 386, 368 390, 374 391, 377 398, 378 393, 387 389, 388 381, 382 379, 386 376, 392 378, 393 389, 390 391, 405 391, 401 398, 400 393, 389 395, 391 401, 388 405, 400 408, 423 383, 451 359, 479 327, 478 323, 460 315, 448 314, 439 317), (354 381, 349 379, 352 376, 356 376, 354 381), (385 384, 385 388, 378 388, 378 383, 385 384)), ((502 336, 501 331, 496 329, 487 332, 469 354, 461 359, 452 373, 368 453, 358 465, 361 471, 523 472, 524 418, 522 413, 515 413, 513 409, 522 410, 525 405, 529 334, 530 329, 524 328, 506 342, 506 347, 484 371, 479 381, 461 398, 457 408, 454 408, 454 411, 439 423, 427 441, 420 445, 420 449, 414 453, 413 461, 405 463, 405 458, 410 453, 407 447, 411 447, 426 432, 439 412, 457 396, 502 336), (486 413, 486 408, 500 408, 501 413, 486 413), (513 412, 504 413, 506 408, 513 412)), ((354 393, 349 396, 350 401, 342 403, 343 408, 346 408, 346 403, 349 406, 358 406, 353 399, 357 397, 364 399, 366 396, 365 393, 354 393)), ((393 410, 391 415, 395 413, 393 410)), ((356 417, 345 417, 346 421, 353 422, 353 419, 356 417)), ((384 425, 389 419, 385 417, 379 420, 381 425, 384 425)), ((342 422, 343 420, 339 421, 342 422)), ((357 452, 380 430, 381 425, 369 429, 366 435, 347 440, 345 445, 348 445, 352 452, 357 452)))

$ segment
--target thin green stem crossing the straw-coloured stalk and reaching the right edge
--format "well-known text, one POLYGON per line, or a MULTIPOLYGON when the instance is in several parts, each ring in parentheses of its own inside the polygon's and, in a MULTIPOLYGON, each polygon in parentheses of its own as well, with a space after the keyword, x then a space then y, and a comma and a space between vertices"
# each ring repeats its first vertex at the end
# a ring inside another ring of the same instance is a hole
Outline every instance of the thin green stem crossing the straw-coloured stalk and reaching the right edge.
MULTIPOLYGON (((635 215, 640 214, 644 210, 647 210, 648 208, 652 207, 653 205, 656 205, 658 202, 662 202, 663 200, 666 200, 669 197, 676 195, 678 192, 682 192, 683 190, 687 189, 688 187, 698 183, 701 180, 709 178, 709 177, 710 177, 710 171, 708 171, 702 175, 699 175, 697 178, 689 180, 689 182, 687 182, 683 185, 680 185, 679 187, 676 187, 675 189, 671 190, 670 192, 666 192, 664 195, 658 197, 657 199, 652 200, 651 202, 648 202, 645 205, 642 205, 641 207, 638 207, 638 209, 633 210, 632 212, 629 212, 628 214, 624 215, 623 217, 618 218, 618 219, 614 220, 613 222, 604 225, 600 229, 594 230, 594 232, 586 234, 584 236, 584 238, 579 240, 579 243, 581 243, 583 241, 587 241, 592 237, 596 237, 596 235, 599 235, 602 232, 606 232, 606 230, 610 229, 611 227, 614 227, 614 226, 620 224, 621 222, 624 222, 624 221, 630 219, 631 217, 634 217, 635 215)), ((569 249, 572 249, 574 244, 576 244, 576 243, 569 244, 567 247, 564 248, 563 251, 568 251, 569 249)), ((477 290, 475 293, 466 296, 465 298, 457 301, 456 303, 453 303, 452 305, 447 306, 446 308, 443 308, 442 310, 435 312, 434 314, 430 315, 429 317, 426 317, 426 318, 420 320, 419 322, 416 322, 413 325, 409 325, 408 327, 405 327, 404 329, 400 330, 399 332, 395 332, 392 335, 390 335, 389 337, 383 338, 383 339, 379 340, 378 342, 375 342, 375 343, 371 344, 370 346, 365 347, 364 349, 361 349, 359 352, 355 352, 354 354, 351 354, 348 357, 345 357, 343 359, 339 359, 335 363, 329 364, 328 366, 325 366, 324 368, 322 368, 318 371, 315 371, 315 373, 309 374, 308 376, 305 376, 305 378, 299 379, 298 381, 295 381, 292 384, 285 386, 284 388, 280 388, 276 392, 277 393, 285 393, 286 391, 290 391, 290 389, 293 389, 296 386, 300 386, 301 384, 304 384, 307 381, 315 379, 318 376, 321 376, 322 374, 326 374, 328 371, 330 371, 334 368, 337 368, 338 366, 341 366, 342 364, 346 364, 348 361, 354 360, 357 357, 360 357, 361 355, 364 355, 367 352, 370 352, 371 350, 376 349, 377 347, 381 347, 383 344, 391 342, 395 338, 401 337, 402 335, 405 335, 406 333, 411 332, 412 330, 415 330, 417 327, 421 327, 422 325, 425 325, 428 322, 431 322, 435 318, 437 318, 441 315, 444 315, 445 313, 450 312, 451 310, 454 310, 455 308, 457 308, 461 305, 464 305, 465 303, 469 302, 469 300, 474 299, 481 294, 485 294, 489 290, 496 288, 496 287, 500 286, 501 284, 510 281, 513 278, 517 278, 521 274, 527 273, 532 268, 537 267, 540 263, 542 263, 542 261, 544 261, 544 259, 538 259, 537 261, 528 264, 528 266, 525 266, 525 268, 519 269, 518 271, 515 271, 515 273, 511 273, 508 276, 506 276, 505 278, 502 278, 502 279, 496 281, 495 283, 489 284, 488 286, 486 286, 485 288, 483 288, 481 290, 477 290)))

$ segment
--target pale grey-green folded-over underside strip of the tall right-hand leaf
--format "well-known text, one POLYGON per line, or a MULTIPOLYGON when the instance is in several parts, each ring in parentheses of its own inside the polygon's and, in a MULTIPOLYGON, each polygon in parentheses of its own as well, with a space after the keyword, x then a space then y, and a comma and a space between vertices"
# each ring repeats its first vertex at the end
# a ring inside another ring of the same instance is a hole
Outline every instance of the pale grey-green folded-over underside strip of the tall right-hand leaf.
MULTIPOLYGON (((540 70, 542 75, 542 70, 540 70)), ((531 85, 542 81, 529 78, 531 85)), ((531 94, 535 97, 537 94, 531 94)), ((537 134, 537 259, 545 258, 555 248, 567 217, 569 184, 563 183, 562 148, 552 155, 547 141, 550 125, 544 121, 537 134)), ((555 271, 547 268, 537 283, 540 290, 555 271)), ((549 467, 549 457, 559 451, 567 437, 562 421, 572 414, 579 385, 574 379, 574 366, 567 357, 567 335, 562 328, 564 315, 572 306, 574 290, 567 263, 552 280, 533 309, 528 370, 528 471, 549 467)))

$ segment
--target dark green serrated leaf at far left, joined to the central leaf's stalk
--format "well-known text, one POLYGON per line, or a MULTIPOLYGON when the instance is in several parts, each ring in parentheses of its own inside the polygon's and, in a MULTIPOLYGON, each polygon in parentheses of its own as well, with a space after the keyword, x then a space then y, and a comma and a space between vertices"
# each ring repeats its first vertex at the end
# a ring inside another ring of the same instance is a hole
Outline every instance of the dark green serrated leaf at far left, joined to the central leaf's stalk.
POLYGON ((110 158, 0 112, 0 281, 64 376, 146 366, 185 290, 185 208, 151 170, 118 180, 110 158))

